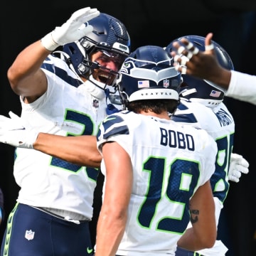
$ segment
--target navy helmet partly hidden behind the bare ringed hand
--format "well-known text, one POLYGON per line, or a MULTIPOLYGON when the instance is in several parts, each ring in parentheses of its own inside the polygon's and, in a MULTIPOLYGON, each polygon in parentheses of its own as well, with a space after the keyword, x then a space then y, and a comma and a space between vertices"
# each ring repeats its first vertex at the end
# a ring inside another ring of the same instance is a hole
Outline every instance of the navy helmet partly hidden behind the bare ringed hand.
MULTIPOLYGON (((188 41, 191 41, 199 50, 205 50, 205 38, 203 36, 182 36, 174 41, 180 41, 181 38, 187 38, 188 41)), ((171 41, 169 46, 166 47, 167 53, 171 53, 174 41, 171 41)), ((233 70, 233 62, 228 53, 215 41, 212 41, 212 43, 220 65, 228 70, 233 70)), ((191 101, 201 102, 208 107, 215 107, 220 104, 220 102, 223 102, 224 90, 221 90, 218 85, 208 80, 194 78, 191 75, 182 75, 182 77, 181 97, 185 97, 191 101)))

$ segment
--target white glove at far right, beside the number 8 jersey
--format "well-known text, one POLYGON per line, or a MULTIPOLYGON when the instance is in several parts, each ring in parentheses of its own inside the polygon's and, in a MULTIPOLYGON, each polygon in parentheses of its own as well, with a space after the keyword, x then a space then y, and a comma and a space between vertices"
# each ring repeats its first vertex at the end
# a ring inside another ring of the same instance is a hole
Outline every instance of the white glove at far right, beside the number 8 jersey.
POLYGON ((249 172, 248 167, 249 163, 242 156, 231 153, 228 180, 238 183, 241 175, 249 172))

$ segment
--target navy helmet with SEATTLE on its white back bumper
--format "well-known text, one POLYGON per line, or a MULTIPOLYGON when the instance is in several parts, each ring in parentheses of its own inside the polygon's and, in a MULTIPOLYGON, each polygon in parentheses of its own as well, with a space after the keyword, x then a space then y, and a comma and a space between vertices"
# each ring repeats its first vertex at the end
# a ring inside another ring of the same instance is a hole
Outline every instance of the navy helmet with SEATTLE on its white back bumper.
POLYGON ((117 79, 124 105, 135 100, 179 100, 181 73, 160 46, 142 46, 124 60, 117 79))

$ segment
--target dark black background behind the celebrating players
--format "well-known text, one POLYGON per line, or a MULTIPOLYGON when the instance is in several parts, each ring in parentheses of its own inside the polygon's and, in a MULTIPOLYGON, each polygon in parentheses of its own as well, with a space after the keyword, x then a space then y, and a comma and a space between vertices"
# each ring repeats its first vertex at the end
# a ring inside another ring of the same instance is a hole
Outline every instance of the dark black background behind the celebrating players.
MULTIPOLYGON (((21 113, 18 96, 12 92, 6 72, 16 55, 26 46, 61 26, 70 15, 90 6, 119 18, 129 31, 132 50, 143 45, 167 46, 180 36, 206 36, 223 46, 235 70, 256 75, 256 1, 4 1, 1 9, 0 114, 21 113)), ((255 85, 256 86, 256 85, 255 85)), ((234 152, 250 163, 249 174, 231 183, 220 216, 218 238, 229 248, 227 256, 256 255, 256 106, 225 99, 235 119, 234 152)), ((0 187, 4 192, 6 218, 0 226, 0 239, 6 219, 16 203, 18 186, 14 181, 14 148, 0 144, 0 187)), ((36 171, 36 170, 35 170, 36 171)))

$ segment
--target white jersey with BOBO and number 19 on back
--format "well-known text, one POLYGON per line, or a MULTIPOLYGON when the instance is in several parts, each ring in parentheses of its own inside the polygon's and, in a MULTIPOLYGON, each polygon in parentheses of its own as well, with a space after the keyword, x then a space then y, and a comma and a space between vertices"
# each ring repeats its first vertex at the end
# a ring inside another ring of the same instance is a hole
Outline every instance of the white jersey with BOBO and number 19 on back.
POLYGON ((127 225, 117 255, 174 255, 190 220, 189 200, 215 169, 213 138, 203 129, 122 111, 100 126, 98 149, 112 141, 127 151, 134 172, 127 225))

